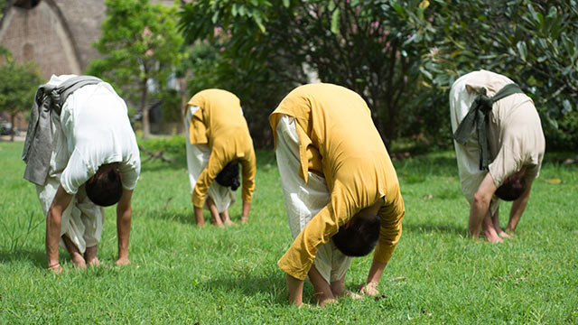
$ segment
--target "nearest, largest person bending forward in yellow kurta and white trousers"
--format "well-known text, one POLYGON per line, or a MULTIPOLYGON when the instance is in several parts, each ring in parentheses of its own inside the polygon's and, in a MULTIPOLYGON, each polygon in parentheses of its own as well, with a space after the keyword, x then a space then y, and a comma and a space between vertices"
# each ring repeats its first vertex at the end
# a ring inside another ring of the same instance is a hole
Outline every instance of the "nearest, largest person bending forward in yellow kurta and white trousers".
POLYGON ((377 295, 405 207, 367 104, 348 88, 311 84, 290 92, 269 120, 294 236, 277 262, 286 273, 290 302, 303 304, 306 276, 321 305, 345 294, 349 255, 366 255, 376 242, 360 292, 377 295))

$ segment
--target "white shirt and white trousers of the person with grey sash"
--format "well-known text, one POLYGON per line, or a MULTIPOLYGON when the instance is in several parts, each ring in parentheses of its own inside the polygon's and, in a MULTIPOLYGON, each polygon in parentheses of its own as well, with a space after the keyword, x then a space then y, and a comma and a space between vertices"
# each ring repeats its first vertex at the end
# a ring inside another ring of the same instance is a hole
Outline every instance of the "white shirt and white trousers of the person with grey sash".
MULTIPOLYGON (((60 85, 72 77, 52 76, 49 83, 60 85)), ((135 189, 140 172, 135 134, 125 102, 105 82, 76 90, 51 122, 55 145, 46 183, 36 186, 38 199, 46 216, 59 185, 73 195, 61 216, 61 237, 69 237, 84 253, 87 246, 98 245, 104 221, 104 209, 89 200, 84 183, 100 165, 118 163, 123 187, 135 189)))

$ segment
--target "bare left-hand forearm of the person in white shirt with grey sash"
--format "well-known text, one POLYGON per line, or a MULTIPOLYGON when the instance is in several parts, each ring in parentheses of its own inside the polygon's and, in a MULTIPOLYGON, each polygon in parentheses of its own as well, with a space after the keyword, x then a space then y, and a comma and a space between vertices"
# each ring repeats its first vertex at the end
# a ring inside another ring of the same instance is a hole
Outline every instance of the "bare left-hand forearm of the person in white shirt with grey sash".
POLYGON ((51 203, 51 208, 46 216, 46 258, 48 265, 59 263, 58 245, 61 238, 62 213, 70 205, 72 194, 64 190, 62 185, 56 190, 56 195, 51 203))

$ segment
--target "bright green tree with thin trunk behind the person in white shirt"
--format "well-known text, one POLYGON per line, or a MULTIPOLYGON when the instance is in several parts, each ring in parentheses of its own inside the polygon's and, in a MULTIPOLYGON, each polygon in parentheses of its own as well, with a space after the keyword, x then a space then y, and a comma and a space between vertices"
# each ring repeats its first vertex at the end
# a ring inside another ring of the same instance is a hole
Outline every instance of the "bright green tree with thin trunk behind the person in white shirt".
POLYGON ((105 58, 92 60, 89 74, 108 79, 123 97, 140 102, 143 137, 150 135, 149 88, 164 83, 180 61, 182 37, 176 8, 149 0, 107 0, 102 35, 94 44, 105 58), (139 98, 140 97, 140 98, 139 98))

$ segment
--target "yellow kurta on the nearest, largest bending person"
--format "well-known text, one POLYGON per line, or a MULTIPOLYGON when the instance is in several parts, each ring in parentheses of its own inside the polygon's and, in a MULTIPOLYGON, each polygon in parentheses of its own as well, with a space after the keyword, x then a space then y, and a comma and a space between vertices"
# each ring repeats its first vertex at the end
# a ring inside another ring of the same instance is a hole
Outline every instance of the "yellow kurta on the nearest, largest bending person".
POLYGON ((358 94, 331 84, 311 84, 295 88, 269 116, 276 135, 282 115, 295 118, 299 136, 301 168, 320 173, 327 181, 331 200, 295 238, 277 262, 285 273, 303 280, 317 254, 340 226, 361 209, 385 197, 379 209, 381 229, 375 258, 387 263, 401 236, 401 220, 406 214, 396 171, 369 108, 358 94))

